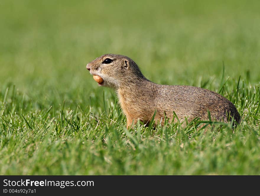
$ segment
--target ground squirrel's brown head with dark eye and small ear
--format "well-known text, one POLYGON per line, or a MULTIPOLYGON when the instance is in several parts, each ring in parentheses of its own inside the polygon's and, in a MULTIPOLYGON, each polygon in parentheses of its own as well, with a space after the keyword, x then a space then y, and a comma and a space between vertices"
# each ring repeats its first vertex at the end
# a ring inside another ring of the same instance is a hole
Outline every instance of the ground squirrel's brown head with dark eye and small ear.
POLYGON ((102 78, 100 86, 119 88, 136 80, 145 79, 137 64, 127 56, 104 54, 87 64, 90 74, 102 78))

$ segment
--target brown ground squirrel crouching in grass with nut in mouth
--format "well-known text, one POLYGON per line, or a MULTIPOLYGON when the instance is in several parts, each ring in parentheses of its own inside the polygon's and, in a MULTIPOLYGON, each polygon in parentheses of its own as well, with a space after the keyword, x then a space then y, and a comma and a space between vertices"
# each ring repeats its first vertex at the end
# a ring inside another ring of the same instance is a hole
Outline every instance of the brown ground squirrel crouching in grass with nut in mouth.
POLYGON ((105 54, 87 64, 87 69, 100 86, 115 88, 127 127, 137 120, 147 123, 155 114, 155 125, 164 123, 165 116, 179 120, 211 119, 228 122, 232 117, 239 123, 237 109, 223 96, 194 86, 159 85, 147 80, 137 64, 127 56, 105 54))

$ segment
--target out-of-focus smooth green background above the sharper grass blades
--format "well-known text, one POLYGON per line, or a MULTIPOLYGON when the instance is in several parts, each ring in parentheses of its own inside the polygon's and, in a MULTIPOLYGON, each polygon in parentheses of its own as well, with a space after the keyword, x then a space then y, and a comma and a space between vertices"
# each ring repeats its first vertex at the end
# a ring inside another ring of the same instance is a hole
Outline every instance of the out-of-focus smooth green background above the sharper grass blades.
POLYGON ((259 82, 259 1, 0 2, 1 84, 22 90, 95 85, 85 65, 106 53, 134 59, 148 79, 259 82), (35 88, 32 88, 34 86, 35 88))

